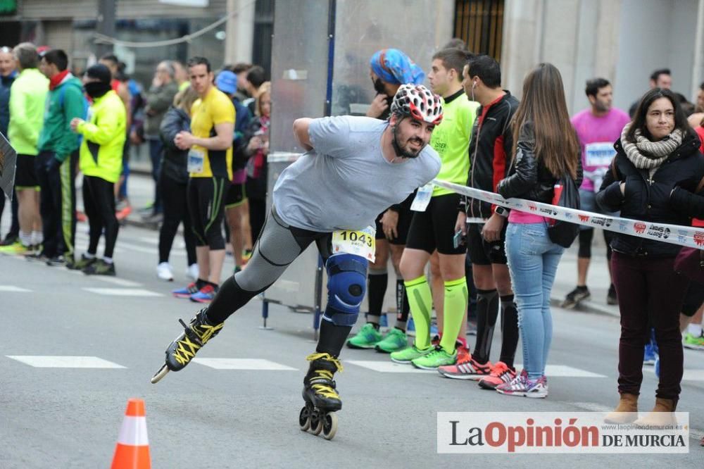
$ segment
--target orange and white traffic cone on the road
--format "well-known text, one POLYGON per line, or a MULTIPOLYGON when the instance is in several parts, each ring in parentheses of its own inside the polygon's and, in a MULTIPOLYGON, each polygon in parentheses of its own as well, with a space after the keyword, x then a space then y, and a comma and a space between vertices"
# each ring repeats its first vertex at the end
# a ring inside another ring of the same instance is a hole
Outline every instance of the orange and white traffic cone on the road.
POLYGON ((146 437, 146 416, 142 399, 127 401, 125 420, 122 420, 118 446, 115 446, 111 469, 151 469, 149 439, 146 437))

